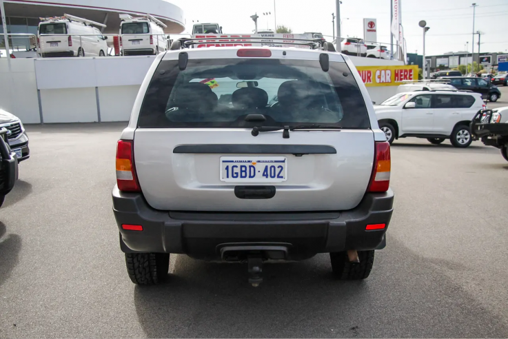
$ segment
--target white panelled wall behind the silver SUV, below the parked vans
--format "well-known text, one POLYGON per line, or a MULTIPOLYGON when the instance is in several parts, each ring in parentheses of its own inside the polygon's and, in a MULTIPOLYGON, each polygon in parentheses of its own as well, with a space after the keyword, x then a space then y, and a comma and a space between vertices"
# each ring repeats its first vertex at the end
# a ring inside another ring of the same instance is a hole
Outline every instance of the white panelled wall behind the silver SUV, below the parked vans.
MULTIPOLYGON (((363 65, 402 65, 349 56, 363 65)), ((23 123, 128 121, 132 105, 154 56, 105 58, 0 59, 0 108, 19 116, 23 123)), ((397 86, 367 88, 372 101, 381 103, 396 94, 397 86)))

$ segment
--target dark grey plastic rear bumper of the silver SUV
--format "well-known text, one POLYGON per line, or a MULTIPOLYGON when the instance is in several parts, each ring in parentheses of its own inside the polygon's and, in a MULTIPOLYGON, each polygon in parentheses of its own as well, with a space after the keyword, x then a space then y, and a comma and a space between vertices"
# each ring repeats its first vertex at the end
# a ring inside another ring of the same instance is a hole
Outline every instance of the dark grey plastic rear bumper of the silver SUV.
POLYGON ((354 209, 343 212, 214 213, 167 212, 152 209, 143 194, 114 187, 113 212, 124 252, 188 254, 194 258, 221 258, 224 245, 281 245, 288 260, 346 249, 380 249, 392 218, 394 193, 365 194, 354 209), (128 231, 123 224, 142 225, 128 231), (366 231, 366 225, 386 224, 366 231))

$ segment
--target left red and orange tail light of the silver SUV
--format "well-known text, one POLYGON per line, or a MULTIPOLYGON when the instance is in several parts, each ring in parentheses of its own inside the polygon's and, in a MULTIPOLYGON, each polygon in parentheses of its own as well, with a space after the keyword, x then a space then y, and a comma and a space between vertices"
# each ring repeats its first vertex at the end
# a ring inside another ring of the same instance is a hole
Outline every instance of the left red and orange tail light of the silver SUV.
POLYGON ((124 192, 141 192, 134 168, 134 144, 120 140, 116 144, 116 184, 124 192))

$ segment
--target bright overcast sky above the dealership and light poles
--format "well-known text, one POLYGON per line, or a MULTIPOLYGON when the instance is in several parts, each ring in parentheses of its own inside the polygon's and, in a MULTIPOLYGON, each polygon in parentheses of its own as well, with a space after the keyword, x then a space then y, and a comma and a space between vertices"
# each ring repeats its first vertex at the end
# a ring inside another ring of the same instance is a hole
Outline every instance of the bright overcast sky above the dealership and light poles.
MULTIPOLYGON (((192 21, 217 22, 225 33, 245 33, 254 30, 250 16, 257 12, 258 28, 286 25, 295 33, 322 32, 332 35, 332 13, 335 0, 169 0, 185 11, 187 32, 192 21), (240 4, 241 3, 241 4, 240 4), (272 12, 263 16, 263 12, 272 12)), ((376 18, 378 41, 389 42, 390 0, 342 0, 342 36, 363 38, 363 18, 376 18)), ((407 51, 418 54, 423 50, 422 28, 418 21, 426 20, 427 55, 465 50, 471 51, 473 8, 470 0, 400 0, 402 24, 407 51)), ((476 3, 475 30, 480 30, 480 52, 508 52, 508 0, 478 0, 476 3)), ((478 35, 475 35, 475 52, 478 52, 478 35)), ((330 39, 331 40, 331 39, 330 39)), ((329 40, 329 41, 330 41, 329 40)))

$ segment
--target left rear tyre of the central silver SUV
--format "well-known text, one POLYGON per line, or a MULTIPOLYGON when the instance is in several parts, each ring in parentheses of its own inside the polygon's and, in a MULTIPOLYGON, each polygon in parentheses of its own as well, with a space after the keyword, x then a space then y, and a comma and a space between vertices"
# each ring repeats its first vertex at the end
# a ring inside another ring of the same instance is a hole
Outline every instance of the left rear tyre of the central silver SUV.
POLYGON ((126 253, 125 265, 132 283, 156 285, 167 278, 170 255, 165 253, 126 253))

